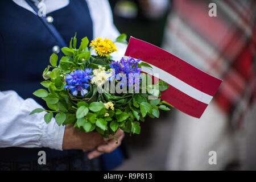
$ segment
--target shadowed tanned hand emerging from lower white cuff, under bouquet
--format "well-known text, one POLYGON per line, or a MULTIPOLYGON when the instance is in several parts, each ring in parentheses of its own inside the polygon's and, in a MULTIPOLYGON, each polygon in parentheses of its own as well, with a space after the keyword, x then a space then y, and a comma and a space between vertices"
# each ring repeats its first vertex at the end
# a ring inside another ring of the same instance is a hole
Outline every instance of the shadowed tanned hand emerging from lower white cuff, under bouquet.
POLYGON ((97 132, 82 133, 73 127, 73 124, 67 125, 63 137, 63 150, 82 149, 84 151, 92 150, 97 146, 104 144, 105 140, 97 132))

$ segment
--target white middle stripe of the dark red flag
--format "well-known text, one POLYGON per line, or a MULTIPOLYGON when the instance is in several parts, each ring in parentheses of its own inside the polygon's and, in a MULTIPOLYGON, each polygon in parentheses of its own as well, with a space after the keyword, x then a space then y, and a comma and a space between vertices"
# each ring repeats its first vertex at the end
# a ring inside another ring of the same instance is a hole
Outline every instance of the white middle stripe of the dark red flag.
MULTIPOLYGON (((127 59, 127 56, 124 56, 125 59, 127 59)), ((141 63, 141 61, 139 62, 141 63)), ((147 63, 148 64, 148 63, 147 63)), ((155 67, 152 64, 151 67, 142 67, 142 71, 146 72, 150 75, 159 74, 159 79, 167 82, 168 84, 174 86, 174 88, 180 90, 181 92, 187 94, 188 96, 195 98, 195 100, 203 102, 205 104, 209 104, 212 100, 213 96, 210 96, 204 92, 201 92, 200 90, 197 90, 196 88, 193 88, 193 86, 188 85, 184 81, 180 80, 179 78, 171 75, 170 73, 164 71, 163 69, 160 69, 158 67, 155 67)))

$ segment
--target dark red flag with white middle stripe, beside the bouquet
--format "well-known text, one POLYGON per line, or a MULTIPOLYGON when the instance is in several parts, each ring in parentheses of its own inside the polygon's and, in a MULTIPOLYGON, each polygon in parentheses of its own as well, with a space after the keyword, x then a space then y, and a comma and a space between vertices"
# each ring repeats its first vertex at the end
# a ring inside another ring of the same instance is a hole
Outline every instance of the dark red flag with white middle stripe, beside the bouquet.
POLYGON ((150 64, 153 69, 143 67, 142 71, 153 76, 158 73, 159 79, 170 86, 160 98, 196 118, 204 113, 222 82, 164 49, 133 37, 125 56, 150 64))

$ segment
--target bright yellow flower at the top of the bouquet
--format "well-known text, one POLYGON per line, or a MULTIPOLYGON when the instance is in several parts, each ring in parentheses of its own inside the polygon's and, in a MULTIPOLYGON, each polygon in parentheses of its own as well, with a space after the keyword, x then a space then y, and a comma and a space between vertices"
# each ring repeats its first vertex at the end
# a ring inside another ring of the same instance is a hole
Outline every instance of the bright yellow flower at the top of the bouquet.
POLYGON ((104 40, 102 38, 96 38, 92 40, 90 46, 92 46, 97 55, 101 57, 108 57, 110 53, 117 51, 117 46, 115 46, 111 40, 106 38, 104 40))

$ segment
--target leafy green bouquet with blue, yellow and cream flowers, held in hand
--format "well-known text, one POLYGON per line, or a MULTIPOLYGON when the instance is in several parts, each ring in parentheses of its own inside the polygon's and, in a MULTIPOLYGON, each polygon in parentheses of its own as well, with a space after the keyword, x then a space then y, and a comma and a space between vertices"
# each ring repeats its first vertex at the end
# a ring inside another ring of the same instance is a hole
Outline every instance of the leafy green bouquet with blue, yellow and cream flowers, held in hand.
MULTIPOLYGON (((121 34, 115 42, 126 43, 126 35, 121 34)), ((75 35, 69 47, 61 48, 65 56, 59 60, 53 53, 51 65, 43 71, 45 81, 40 83, 47 90, 33 93, 46 101, 49 109, 38 108, 30 114, 46 111, 46 123, 54 114, 59 126, 73 123, 77 130, 96 131, 108 138, 118 128, 139 134, 139 122, 146 115, 158 118, 159 109, 170 110, 168 103, 158 98, 168 84, 161 80, 152 84, 152 78, 141 72, 141 67, 150 65, 139 59, 112 60, 110 54, 118 51, 115 42, 97 38, 89 44, 85 37, 78 47, 75 35), (91 55, 93 49, 96 55, 91 55)))

